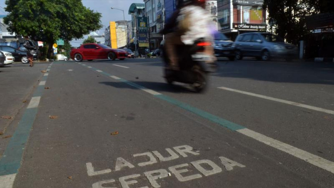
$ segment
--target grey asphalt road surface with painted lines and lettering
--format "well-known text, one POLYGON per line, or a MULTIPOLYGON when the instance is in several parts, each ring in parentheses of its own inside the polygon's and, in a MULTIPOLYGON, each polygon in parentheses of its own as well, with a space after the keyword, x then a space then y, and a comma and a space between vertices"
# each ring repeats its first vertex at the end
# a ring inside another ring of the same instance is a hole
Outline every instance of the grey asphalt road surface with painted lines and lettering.
POLYGON ((0 68, 0 188, 334 187, 334 64, 218 64, 204 93, 161 59, 36 64, 17 96, 0 68))

